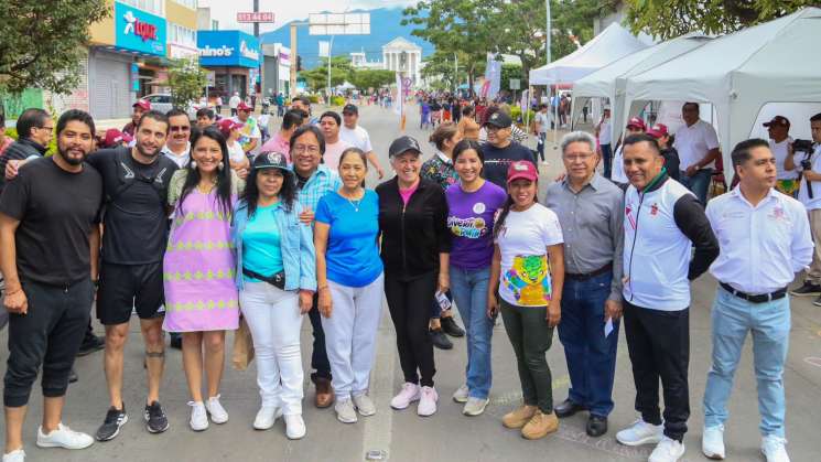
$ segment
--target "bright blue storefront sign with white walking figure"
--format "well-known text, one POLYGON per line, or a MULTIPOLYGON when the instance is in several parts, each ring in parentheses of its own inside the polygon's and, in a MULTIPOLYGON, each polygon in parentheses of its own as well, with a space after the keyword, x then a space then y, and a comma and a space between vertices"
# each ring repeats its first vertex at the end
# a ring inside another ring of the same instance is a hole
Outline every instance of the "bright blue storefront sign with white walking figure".
POLYGON ((115 2, 117 46, 165 56, 165 19, 115 2))

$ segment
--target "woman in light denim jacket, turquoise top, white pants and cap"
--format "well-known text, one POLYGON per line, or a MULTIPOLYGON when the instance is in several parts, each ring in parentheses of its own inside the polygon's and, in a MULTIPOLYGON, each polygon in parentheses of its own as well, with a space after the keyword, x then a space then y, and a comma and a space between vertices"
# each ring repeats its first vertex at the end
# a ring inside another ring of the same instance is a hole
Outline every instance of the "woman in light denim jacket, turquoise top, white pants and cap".
POLYGON ((262 397, 253 428, 267 430, 284 415, 290 439, 305 436, 300 327, 316 291, 313 234, 299 221, 295 195, 284 154, 258 155, 231 228, 239 304, 253 337, 262 397))

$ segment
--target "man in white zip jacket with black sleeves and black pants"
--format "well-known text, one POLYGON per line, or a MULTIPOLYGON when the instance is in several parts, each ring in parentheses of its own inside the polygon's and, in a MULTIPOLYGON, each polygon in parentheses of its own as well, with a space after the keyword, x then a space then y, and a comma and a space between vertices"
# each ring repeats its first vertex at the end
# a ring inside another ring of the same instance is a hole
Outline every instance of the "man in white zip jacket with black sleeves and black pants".
POLYGON ((656 138, 628 136, 624 170, 630 181, 624 217, 624 327, 641 418, 616 440, 657 443, 649 462, 676 462, 684 454, 690 417, 690 281, 719 256, 719 243, 695 196, 668 176, 656 138))

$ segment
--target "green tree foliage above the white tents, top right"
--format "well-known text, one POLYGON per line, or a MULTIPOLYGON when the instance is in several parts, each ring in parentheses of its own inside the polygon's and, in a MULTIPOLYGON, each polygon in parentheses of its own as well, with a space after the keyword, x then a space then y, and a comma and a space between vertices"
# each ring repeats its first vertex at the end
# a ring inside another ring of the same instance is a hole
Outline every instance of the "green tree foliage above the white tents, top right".
POLYGON ((735 32, 790 14, 818 0, 626 0, 633 32, 644 31, 662 40, 688 32, 735 32))

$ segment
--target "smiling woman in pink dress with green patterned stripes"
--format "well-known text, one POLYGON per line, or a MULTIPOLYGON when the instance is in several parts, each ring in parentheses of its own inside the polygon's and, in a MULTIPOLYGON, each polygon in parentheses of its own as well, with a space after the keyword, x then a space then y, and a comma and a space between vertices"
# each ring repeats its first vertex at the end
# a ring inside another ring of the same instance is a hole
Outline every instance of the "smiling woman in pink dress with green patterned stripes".
POLYGON ((174 173, 169 204, 174 218, 163 259, 163 329, 183 335, 183 366, 191 393, 191 428, 228 421, 219 404, 225 331, 239 324, 230 222, 240 180, 228 164, 225 137, 206 128, 192 140, 192 162, 174 173), (203 355, 204 352, 204 355, 203 355), (204 357, 203 357, 204 356, 204 357), (203 364, 208 399, 203 401, 203 364))

